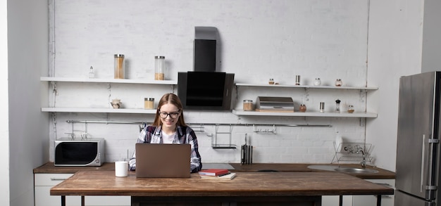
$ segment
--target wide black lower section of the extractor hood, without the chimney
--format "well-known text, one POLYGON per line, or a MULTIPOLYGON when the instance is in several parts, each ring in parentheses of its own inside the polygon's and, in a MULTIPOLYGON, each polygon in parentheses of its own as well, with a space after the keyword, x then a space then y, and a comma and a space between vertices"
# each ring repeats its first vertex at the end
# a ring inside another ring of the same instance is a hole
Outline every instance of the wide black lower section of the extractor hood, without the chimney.
POLYGON ((234 74, 178 72, 178 96, 186 110, 231 110, 234 74))

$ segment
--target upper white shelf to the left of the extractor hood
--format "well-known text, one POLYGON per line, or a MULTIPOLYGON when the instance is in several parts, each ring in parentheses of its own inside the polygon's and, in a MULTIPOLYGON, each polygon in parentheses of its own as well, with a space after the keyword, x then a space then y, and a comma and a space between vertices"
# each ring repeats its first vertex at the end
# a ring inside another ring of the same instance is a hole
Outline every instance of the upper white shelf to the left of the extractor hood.
POLYGON ((118 83, 118 84, 166 84, 177 85, 175 80, 149 80, 149 79, 89 79, 67 77, 40 77, 42 82, 83 82, 83 83, 118 83))

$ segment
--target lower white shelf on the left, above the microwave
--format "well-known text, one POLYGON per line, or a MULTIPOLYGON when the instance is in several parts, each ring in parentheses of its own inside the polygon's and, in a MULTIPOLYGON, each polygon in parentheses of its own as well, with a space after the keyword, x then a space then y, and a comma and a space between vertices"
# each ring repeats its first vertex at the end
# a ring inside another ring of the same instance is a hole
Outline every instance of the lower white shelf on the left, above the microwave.
POLYGON ((113 108, 42 108, 42 112, 156 114, 156 110, 113 108))

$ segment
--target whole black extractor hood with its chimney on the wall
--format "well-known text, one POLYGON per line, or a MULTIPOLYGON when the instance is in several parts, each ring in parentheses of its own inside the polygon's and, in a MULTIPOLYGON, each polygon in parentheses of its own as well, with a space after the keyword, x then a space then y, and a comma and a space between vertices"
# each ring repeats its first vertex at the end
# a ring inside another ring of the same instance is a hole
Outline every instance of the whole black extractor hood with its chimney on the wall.
POLYGON ((216 27, 195 27, 194 71, 178 72, 178 96, 187 110, 231 110, 234 74, 218 72, 220 41, 216 27))

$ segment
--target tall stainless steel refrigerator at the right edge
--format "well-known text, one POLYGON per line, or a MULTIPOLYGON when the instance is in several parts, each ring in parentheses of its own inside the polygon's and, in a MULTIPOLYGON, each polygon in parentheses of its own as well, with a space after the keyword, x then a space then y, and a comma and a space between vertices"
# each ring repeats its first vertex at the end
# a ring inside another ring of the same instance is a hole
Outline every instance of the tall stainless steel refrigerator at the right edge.
POLYGON ((399 80, 395 206, 435 206, 441 198, 440 84, 441 72, 399 80))

